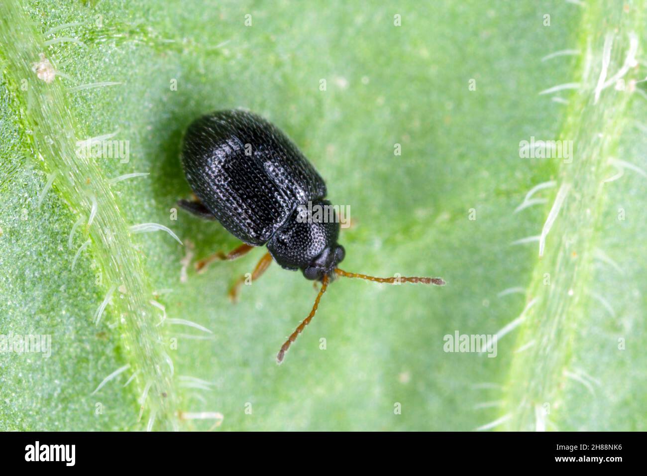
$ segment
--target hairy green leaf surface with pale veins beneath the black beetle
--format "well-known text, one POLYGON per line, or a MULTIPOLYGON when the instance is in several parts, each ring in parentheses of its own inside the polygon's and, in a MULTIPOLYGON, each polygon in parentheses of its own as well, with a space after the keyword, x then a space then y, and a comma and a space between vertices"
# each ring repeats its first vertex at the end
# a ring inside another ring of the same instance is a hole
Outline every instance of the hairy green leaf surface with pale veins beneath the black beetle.
POLYGON ((3 1, 0 336, 51 355, 0 353, 0 429, 644 431, 646 8, 3 1), (263 250, 197 274, 237 241, 175 210, 182 133, 228 108, 350 207, 344 269, 448 284, 339 278, 276 365, 311 283, 274 264, 232 304, 263 250), (127 160, 79 155, 107 135, 127 160))

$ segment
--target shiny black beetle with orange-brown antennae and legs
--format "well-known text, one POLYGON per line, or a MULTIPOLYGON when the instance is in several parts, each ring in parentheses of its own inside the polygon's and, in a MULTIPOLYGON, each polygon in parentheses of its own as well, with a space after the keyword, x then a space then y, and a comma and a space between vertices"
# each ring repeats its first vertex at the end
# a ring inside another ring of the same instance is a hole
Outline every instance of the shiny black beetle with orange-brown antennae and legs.
MULTIPOLYGON (((330 205, 322 177, 290 139, 258 115, 218 111, 195 120, 184 137, 182 165, 197 199, 178 204, 202 218, 218 220, 243 242, 230 253, 219 252, 202 260, 198 270, 214 260, 233 260, 255 246, 266 245, 269 253, 256 265, 252 280, 274 258, 284 269, 300 269, 305 278, 322 282, 313 309, 281 346, 277 363, 313 319, 328 283, 336 276, 389 284, 445 284, 441 278, 376 278, 339 269, 345 251, 337 243, 340 223, 336 214, 332 221, 303 220, 307 203, 330 205)), ((244 279, 236 282, 230 297, 236 297, 244 279)))

